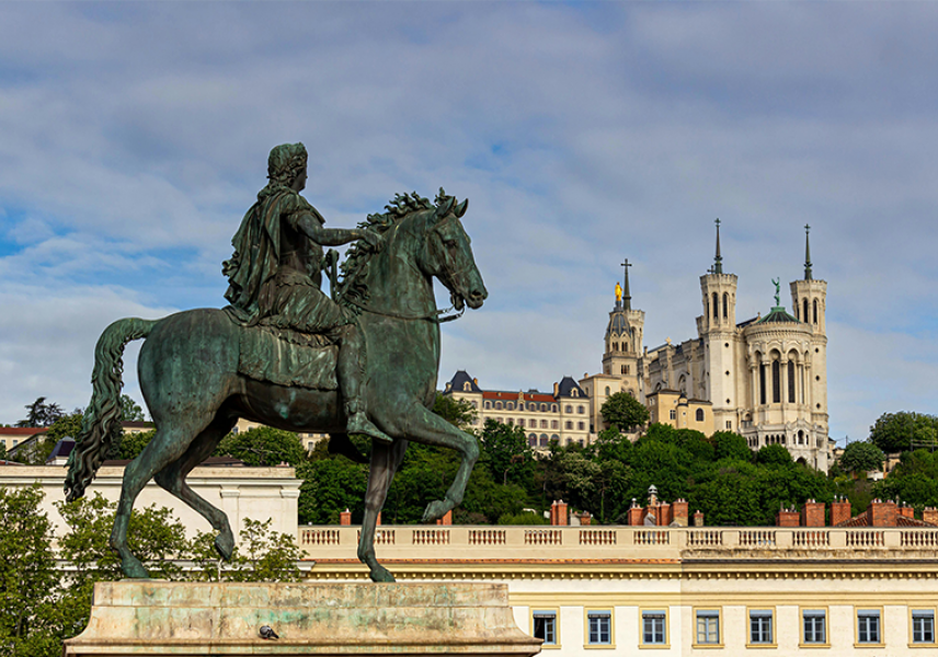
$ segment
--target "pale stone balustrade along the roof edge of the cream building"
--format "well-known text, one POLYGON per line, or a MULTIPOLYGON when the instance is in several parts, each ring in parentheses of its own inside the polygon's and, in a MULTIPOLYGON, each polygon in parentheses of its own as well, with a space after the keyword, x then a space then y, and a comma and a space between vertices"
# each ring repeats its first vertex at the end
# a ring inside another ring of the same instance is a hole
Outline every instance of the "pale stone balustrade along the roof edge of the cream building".
MULTIPOLYGON (((359 528, 301 526, 309 558, 354 558, 359 528)), ((778 527, 384 526, 379 557, 394 560, 938 558, 938 529, 778 527)))

